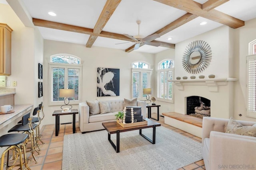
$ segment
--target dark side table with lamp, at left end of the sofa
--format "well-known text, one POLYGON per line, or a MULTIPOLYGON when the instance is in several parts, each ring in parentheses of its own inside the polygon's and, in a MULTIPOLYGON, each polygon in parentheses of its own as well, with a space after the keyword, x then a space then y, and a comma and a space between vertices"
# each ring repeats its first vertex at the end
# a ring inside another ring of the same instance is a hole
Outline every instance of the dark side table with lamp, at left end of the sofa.
POLYGON ((52 116, 55 116, 55 136, 59 135, 60 130, 60 115, 73 115, 73 133, 76 133, 76 114, 78 109, 71 109, 70 112, 62 113, 62 110, 55 110, 52 116))

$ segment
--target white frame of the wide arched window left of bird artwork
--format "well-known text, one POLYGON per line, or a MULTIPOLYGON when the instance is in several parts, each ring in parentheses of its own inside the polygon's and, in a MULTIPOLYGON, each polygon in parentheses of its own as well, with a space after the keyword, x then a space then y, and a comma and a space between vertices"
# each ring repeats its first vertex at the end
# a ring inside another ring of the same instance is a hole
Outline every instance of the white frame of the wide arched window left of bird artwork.
MULTIPOLYGON (((51 56, 52 57, 55 57, 51 56)), ((76 57, 73 55, 68 55, 71 57, 76 57)), ((76 57, 78 58, 78 57, 76 57)), ((79 59, 79 58, 78 58, 79 59)), ((81 60, 80 60, 81 61, 81 60)), ((52 101, 52 68, 64 68, 65 69, 65 84, 64 84, 64 88, 68 87, 68 68, 73 68, 73 69, 79 69, 79 82, 78 82, 78 100, 70 100, 69 104, 70 105, 74 105, 74 104, 79 104, 81 102, 81 94, 82 94, 82 65, 81 64, 67 64, 67 63, 52 63, 50 62, 48 64, 48 68, 49 68, 49 106, 60 106, 64 104, 64 101, 52 101)))

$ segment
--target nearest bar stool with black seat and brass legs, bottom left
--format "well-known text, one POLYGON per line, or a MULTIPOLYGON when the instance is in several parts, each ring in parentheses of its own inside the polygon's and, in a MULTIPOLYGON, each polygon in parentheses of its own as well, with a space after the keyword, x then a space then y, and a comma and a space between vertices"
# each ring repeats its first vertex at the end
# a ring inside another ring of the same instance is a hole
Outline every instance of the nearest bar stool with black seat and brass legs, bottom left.
POLYGON ((1 158, 1 170, 4 169, 4 156, 7 152, 7 161, 6 161, 6 170, 8 169, 12 169, 16 166, 20 166, 20 169, 23 170, 23 163, 25 165, 26 169, 30 169, 28 168, 28 164, 27 164, 27 157, 26 157, 26 148, 24 145, 24 141, 26 141, 28 139, 28 134, 24 134, 24 133, 12 133, 12 134, 6 134, 6 135, 2 135, 0 137, 0 147, 8 147, 6 150, 4 150, 4 152, 2 153, 2 158, 1 158), (10 164, 10 160, 9 160, 9 151, 12 151, 12 165, 10 164), (24 162, 22 162, 22 152, 24 155, 24 162), (16 161, 20 160, 20 164, 16 164, 16 161))

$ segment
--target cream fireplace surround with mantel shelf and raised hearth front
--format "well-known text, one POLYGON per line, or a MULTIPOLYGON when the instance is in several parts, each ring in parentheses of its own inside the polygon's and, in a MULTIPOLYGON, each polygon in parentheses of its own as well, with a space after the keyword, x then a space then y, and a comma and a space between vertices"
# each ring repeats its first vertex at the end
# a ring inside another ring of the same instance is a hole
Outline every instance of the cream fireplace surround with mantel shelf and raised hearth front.
MULTIPOLYGON (((203 96, 210 100, 210 116, 229 119, 234 112, 234 82, 236 78, 202 78, 193 80, 168 80, 174 83, 174 113, 186 114, 186 99, 203 96)), ((164 123, 202 137, 202 128, 171 117, 164 123)))

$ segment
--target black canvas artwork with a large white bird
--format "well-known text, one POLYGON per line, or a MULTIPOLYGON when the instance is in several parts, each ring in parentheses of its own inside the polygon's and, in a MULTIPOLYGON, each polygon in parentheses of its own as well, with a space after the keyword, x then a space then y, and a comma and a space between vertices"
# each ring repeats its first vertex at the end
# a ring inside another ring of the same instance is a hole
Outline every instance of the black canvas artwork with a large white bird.
POLYGON ((97 68, 97 97, 119 96, 119 77, 118 68, 97 68))

